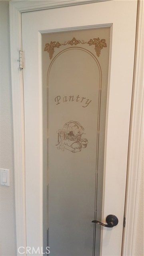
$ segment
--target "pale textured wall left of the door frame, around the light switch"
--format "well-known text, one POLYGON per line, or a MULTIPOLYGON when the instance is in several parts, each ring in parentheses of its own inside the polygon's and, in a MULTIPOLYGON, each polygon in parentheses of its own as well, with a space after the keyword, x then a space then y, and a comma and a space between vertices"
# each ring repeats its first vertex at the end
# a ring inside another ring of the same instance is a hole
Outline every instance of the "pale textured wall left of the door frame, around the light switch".
POLYGON ((0 1, 0 168, 10 169, 10 187, 0 185, 1 256, 16 256, 14 151, 10 73, 9 1, 0 1))

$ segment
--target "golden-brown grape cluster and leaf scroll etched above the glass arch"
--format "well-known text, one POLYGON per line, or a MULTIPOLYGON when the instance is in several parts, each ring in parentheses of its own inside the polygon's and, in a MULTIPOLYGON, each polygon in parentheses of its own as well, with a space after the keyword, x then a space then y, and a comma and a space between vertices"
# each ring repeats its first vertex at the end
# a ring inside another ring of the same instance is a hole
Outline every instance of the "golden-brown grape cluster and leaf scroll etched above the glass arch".
POLYGON ((54 48, 60 48, 60 46, 62 45, 67 45, 70 44, 71 46, 75 46, 77 44, 88 44, 89 46, 95 45, 94 50, 96 51, 96 55, 99 57, 100 56, 100 51, 102 50, 103 47, 107 47, 106 45, 106 40, 105 39, 101 39, 98 38, 93 38, 90 39, 88 42, 84 42, 84 40, 80 41, 77 40, 75 37, 72 38, 72 40, 68 40, 66 42, 64 42, 63 44, 60 44, 59 42, 50 42, 46 43, 44 51, 48 52, 50 60, 52 59, 52 56, 54 54, 54 48))

